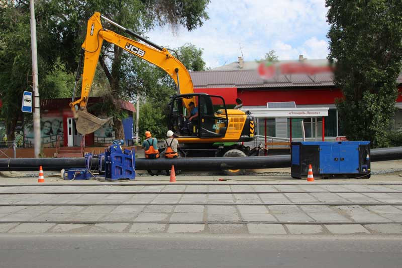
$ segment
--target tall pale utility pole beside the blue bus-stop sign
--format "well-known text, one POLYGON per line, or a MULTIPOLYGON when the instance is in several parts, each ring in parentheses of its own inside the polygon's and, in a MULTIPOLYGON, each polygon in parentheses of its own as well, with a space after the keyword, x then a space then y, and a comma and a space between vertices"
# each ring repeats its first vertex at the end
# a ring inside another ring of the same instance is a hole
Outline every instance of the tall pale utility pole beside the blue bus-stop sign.
POLYGON ((32 50, 32 82, 34 89, 34 154, 39 158, 41 152, 41 116, 38 90, 38 55, 36 47, 36 21, 34 0, 30 2, 31 9, 31 50, 32 50))

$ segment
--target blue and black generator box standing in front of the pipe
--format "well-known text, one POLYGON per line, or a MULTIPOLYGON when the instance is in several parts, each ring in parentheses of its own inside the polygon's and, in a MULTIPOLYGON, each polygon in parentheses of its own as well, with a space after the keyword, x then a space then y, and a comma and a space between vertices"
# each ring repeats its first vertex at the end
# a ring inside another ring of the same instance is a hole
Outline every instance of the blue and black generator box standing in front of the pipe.
POLYGON ((291 143, 291 176, 313 174, 328 178, 370 178, 370 142, 294 142, 291 143))

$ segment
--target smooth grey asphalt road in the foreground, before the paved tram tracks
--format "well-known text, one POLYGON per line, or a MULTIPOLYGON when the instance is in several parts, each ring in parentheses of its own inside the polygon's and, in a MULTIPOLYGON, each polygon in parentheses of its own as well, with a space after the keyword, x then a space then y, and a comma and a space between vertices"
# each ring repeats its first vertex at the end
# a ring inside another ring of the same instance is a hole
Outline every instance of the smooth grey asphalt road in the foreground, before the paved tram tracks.
POLYGON ((400 237, 0 235, 0 267, 401 267, 400 237))

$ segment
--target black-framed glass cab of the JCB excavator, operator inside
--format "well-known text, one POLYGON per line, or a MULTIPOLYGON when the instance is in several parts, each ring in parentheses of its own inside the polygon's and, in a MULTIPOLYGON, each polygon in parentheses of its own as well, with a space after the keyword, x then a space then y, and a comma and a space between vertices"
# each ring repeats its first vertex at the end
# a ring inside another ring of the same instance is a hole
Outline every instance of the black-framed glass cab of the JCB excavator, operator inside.
POLYGON ((178 138, 223 138, 229 123, 225 100, 205 93, 172 97, 168 115, 168 127, 178 138), (192 110, 190 102, 194 103, 192 110))

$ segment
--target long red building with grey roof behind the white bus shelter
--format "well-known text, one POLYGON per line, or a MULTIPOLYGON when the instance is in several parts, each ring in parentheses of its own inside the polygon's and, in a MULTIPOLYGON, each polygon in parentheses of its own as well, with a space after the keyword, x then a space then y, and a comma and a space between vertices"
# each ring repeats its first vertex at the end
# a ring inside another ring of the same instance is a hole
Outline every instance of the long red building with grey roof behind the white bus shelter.
MULTIPOLYGON (((325 66, 327 60, 302 60, 311 66, 325 66)), ((289 61, 281 61, 286 64, 289 61)), ((342 92, 334 86, 331 72, 310 74, 280 74, 264 79, 257 72, 259 63, 244 62, 240 57, 238 62, 215 68, 205 72, 191 72, 191 78, 196 92, 205 92, 211 95, 220 95, 225 98, 226 104, 233 107, 236 98, 243 101, 242 110, 267 109, 268 103, 294 102, 297 108, 328 107, 328 116, 325 117, 325 136, 335 139, 342 136, 342 129, 338 123, 338 111, 335 106, 337 98, 342 98, 342 92)), ((394 128, 402 129, 402 76, 397 79, 400 94, 395 102, 394 128)), ((265 118, 264 118, 265 119, 265 118)), ((289 138, 289 118, 266 118, 267 134, 269 137, 289 138)), ((263 136, 265 120, 259 122, 258 135, 263 136)), ((321 127, 320 118, 306 117, 293 118, 292 137, 302 137, 302 127, 299 121, 304 121, 307 139, 319 139, 321 129, 315 131, 316 125, 321 127), (317 132, 319 136, 317 136, 317 132)))

